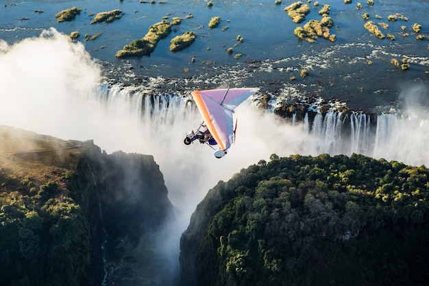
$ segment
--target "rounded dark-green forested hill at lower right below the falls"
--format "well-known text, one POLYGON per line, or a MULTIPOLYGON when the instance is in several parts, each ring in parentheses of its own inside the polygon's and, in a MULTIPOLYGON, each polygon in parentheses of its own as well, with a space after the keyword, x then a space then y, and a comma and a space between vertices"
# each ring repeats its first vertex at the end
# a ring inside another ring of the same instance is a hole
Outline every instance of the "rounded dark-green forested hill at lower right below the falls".
POLYGON ((197 206, 182 235, 183 285, 428 285, 426 167, 270 159, 197 206))

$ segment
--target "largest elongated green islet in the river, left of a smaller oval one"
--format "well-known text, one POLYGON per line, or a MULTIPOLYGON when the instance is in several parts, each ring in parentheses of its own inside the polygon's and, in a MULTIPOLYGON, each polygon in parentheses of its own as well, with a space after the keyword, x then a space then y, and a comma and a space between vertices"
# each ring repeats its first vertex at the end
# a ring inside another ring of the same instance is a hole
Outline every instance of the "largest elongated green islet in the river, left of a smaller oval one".
POLYGON ((130 44, 125 45, 123 49, 117 51, 117 58, 125 58, 127 56, 142 57, 149 55, 155 50, 156 45, 162 39, 171 33, 171 23, 167 20, 162 20, 149 27, 149 32, 141 39, 133 40, 130 44))

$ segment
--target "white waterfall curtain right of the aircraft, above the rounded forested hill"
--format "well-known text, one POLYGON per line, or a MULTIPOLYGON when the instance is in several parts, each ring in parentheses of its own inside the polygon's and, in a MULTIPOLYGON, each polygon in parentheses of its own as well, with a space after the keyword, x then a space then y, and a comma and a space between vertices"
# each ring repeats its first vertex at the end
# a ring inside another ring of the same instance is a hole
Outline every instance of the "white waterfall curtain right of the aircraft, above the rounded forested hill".
POLYGON ((315 150, 312 155, 356 153, 408 165, 429 165, 429 122, 423 114, 380 114, 372 123, 362 112, 352 113, 350 120, 341 119, 339 113, 317 113, 311 126, 307 114, 303 130, 312 141, 306 142, 307 150, 315 150))

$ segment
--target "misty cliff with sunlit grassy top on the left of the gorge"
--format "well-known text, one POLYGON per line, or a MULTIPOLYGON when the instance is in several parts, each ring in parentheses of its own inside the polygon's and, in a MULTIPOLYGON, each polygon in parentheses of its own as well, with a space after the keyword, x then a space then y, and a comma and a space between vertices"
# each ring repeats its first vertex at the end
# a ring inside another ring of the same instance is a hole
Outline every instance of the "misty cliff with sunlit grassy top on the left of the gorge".
POLYGON ((0 206, 5 285, 165 281, 173 207, 152 156, 0 127, 0 206))

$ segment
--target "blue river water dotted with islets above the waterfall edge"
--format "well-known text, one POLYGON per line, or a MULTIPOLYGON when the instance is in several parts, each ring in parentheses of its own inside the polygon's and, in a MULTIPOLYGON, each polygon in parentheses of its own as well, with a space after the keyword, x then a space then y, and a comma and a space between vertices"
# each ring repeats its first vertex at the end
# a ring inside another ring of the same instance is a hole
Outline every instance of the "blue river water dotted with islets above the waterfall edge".
MULTIPOLYGON (((4 2, 4 1, 3 1, 4 2)), ((401 94, 415 83, 429 82, 429 2, 389 0, 362 1, 345 4, 328 0, 308 2, 310 13, 295 24, 284 11, 294 1, 144 1, 81 0, 81 1, 5 1, 0 7, 0 39, 12 44, 24 38, 39 36, 42 29, 54 27, 63 34, 79 31, 77 41, 103 65, 110 82, 125 85, 151 86, 158 79, 156 91, 188 93, 194 88, 218 86, 258 86, 278 102, 296 97, 334 97, 347 101, 355 110, 385 112, 401 107, 401 94), (319 21, 323 5, 330 5, 334 21, 330 34, 334 43, 317 38, 315 43, 299 40, 293 31, 310 19, 319 21), (71 7, 82 9, 73 21, 58 23, 55 14, 71 7), (119 9, 121 19, 112 23, 90 24, 95 14, 119 9), (384 35, 395 40, 379 39, 365 29, 363 14, 379 26, 384 35), (389 21, 390 15, 399 15, 389 21), (188 15, 193 17, 188 18, 188 15), (221 24, 208 28, 212 16, 221 17, 221 24), (149 27, 162 19, 182 18, 167 38, 160 40, 154 52, 143 58, 115 58, 115 53, 132 40, 143 38, 149 27), (417 40, 413 24, 421 25, 417 40), (403 28, 408 33, 404 36, 403 28), (228 27, 228 29, 225 29, 228 27), (184 32, 197 33, 195 43, 182 51, 169 51, 170 40, 184 32), (85 34, 101 33, 95 40, 85 34), (236 37, 243 37, 238 43, 236 37), (234 52, 227 53, 232 47, 234 52), (236 59, 234 56, 243 56, 236 59), (405 58, 410 69, 391 64, 405 58), (194 59, 194 62, 192 61, 194 59), (299 71, 308 70, 306 78, 299 71), (291 77, 295 80, 291 80, 291 77), (160 80, 161 79, 161 80, 160 80), (174 84, 172 84, 172 82, 174 84), (173 88, 171 88, 174 86, 173 88)), ((304 3, 306 3, 304 1, 304 3)))

